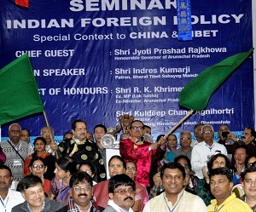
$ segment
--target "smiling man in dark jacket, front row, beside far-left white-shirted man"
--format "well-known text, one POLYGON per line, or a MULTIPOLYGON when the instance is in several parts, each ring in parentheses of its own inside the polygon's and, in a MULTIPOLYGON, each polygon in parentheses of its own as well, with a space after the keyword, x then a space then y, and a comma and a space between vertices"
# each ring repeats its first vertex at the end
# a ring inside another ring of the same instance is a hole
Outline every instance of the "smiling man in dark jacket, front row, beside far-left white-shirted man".
POLYGON ((17 191, 21 192, 24 203, 16 205, 12 212, 20 211, 41 211, 41 212, 67 212, 63 209, 63 204, 45 198, 44 186, 40 177, 36 175, 28 175, 20 180, 17 191))

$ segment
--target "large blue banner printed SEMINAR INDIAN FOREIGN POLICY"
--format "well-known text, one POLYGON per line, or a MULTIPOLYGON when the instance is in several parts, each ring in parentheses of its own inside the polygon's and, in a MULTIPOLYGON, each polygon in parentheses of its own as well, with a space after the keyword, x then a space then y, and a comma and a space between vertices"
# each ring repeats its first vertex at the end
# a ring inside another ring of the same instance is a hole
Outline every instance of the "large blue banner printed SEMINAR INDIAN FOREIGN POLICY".
MULTIPOLYGON (((0 68, 29 54, 55 140, 76 118, 92 132, 126 113, 159 135, 188 112, 177 98, 191 79, 253 47, 251 0, 191 1, 191 22, 192 40, 178 41, 176 0, 30 0, 29 9, 1 0, 0 68)), ((45 126, 43 114, 15 122, 33 136, 45 126)), ((254 126, 252 57, 176 133, 199 122, 238 136, 254 126)))

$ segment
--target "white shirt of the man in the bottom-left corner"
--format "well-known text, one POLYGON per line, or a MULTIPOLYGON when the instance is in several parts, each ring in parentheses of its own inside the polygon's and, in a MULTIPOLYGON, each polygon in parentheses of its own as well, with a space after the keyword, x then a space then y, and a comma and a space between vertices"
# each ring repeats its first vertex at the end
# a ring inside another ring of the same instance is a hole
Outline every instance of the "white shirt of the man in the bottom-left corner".
POLYGON ((20 192, 9 189, 6 198, 4 200, 1 198, 0 200, 0 211, 11 212, 13 207, 15 207, 17 204, 24 203, 24 201, 25 199, 21 196, 20 192))

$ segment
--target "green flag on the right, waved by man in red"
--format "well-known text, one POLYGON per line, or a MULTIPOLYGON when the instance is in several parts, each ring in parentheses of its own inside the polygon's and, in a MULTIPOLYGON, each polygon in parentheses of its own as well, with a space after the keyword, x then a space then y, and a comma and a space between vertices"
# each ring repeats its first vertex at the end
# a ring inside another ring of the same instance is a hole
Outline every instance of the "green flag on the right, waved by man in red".
POLYGON ((179 93, 179 106, 184 106, 193 111, 201 111, 206 108, 212 93, 232 72, 236 71, 236 68, 252 52, 253 48, 247 52, 232 55, 201 72, 179 93))

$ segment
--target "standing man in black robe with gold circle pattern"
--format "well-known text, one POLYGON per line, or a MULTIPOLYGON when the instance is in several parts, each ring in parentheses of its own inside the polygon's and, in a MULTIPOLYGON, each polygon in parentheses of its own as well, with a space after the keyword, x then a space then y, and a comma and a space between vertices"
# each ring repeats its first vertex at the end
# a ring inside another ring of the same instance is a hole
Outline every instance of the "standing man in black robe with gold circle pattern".
POLYGON ((62 157, 68 155, 77 164, 90 162, 96 168, 96 182, 106 180, 106 169, 102 155, 96 143, 86 138, 87 124, 81 119, 74 120, 72 133, 72 140, 63 140, 59 144, 59 151, 62 157))

